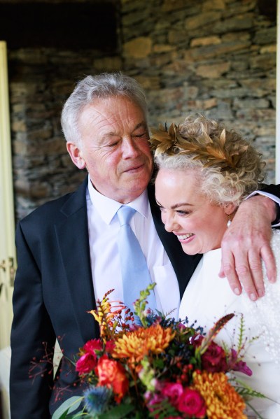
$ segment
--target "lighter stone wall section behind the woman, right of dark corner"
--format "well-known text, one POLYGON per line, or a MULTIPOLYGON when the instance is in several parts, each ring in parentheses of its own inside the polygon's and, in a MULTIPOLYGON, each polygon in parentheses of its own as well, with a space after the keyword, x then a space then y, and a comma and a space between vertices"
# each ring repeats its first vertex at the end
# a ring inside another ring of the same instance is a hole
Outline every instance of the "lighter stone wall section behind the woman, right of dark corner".
POLYGON ((139 80, 151 125, 189 113, 223 120, 253 141, 274 181, 275 2, 123 0, 125 71, 139 80))

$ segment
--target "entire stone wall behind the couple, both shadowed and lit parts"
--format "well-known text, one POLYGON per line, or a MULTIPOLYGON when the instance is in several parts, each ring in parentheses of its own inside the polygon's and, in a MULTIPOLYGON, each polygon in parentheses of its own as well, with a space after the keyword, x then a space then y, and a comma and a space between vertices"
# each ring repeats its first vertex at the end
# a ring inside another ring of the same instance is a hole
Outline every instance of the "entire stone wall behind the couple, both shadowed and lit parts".
POLYGON ((115 51, 8 52, 16 218, 70 192, 85 176, 66 154, 59 117, 76 81, 102 71, 122 70, 139 80, 150 104, 151 125, 201 112, 235 127, 263 153, 272 182, 274 2, 267 1, 265 8, 257 0, 115 3, 115 51))

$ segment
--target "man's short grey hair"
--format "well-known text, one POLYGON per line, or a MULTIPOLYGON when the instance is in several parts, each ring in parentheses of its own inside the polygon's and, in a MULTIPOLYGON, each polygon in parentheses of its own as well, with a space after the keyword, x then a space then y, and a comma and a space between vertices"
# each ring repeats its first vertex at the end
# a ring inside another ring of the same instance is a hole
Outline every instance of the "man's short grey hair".
POLYGON ((87 104, 94 103, 94 99, 108 97, 127 97, 141 108, 147 118, 145 93, 137 80, 121 72, 87 76, 78 82, 62 109, 62 132, 67 142, 81 145, 78 129, 80 113, 87 104))

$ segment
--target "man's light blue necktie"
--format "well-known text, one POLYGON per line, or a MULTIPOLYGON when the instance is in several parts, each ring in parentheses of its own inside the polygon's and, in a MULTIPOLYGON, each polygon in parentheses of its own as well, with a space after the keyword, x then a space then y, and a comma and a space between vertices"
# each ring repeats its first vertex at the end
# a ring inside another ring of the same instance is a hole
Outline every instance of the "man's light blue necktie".
MULTIPOLYGON (((121 206, 117 213, 120 222, 118 248, 123 278, 123 302, 132 311, 134 301, 140 297, 140 291, 151 284, 146 259, 137 237, 130 228, 130 220, 135 212, 131 206, 121 206)), ((154 311, 157 308, 153 290, 148 297, 148 308, 154 311)))

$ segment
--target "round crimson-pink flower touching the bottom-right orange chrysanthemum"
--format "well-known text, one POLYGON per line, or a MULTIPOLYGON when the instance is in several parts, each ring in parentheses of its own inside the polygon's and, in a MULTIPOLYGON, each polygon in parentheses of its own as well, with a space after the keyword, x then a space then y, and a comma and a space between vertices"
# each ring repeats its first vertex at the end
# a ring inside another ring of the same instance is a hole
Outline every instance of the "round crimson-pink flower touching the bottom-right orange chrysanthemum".
POLYGON ((186 388, 180 397, 177 409, 190 417, 204 418, 206 406, 203 397, 196 390, 186 388))

